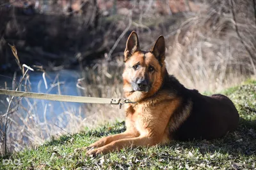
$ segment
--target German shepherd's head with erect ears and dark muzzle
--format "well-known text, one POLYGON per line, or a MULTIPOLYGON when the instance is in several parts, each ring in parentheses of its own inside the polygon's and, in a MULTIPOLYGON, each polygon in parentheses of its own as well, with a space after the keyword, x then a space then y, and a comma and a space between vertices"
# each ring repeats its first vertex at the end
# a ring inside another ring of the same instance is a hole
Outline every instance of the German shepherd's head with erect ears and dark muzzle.
POLYGON ((156 94, 163 83, 166 71, 164 59, 165 43, 163 36, 159 36, 150 51, 142 51, 140 50, 138 35, 132 31, 124 51, 125 97, 138 102, 156 94))

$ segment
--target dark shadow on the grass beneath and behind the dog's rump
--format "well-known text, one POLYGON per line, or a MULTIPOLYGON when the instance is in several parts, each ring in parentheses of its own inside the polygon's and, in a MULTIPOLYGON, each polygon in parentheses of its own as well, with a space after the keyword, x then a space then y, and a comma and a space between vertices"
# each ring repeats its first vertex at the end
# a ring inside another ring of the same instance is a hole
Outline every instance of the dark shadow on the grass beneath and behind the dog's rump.
POLYGON ((195 149, 204 153, 228 153, 232 156, 250 156, 256 154, 256 120, 249 121, 241 118, 239 127, 220 139, 210 141, 188 141, 179 143, 183 148, 195 149))

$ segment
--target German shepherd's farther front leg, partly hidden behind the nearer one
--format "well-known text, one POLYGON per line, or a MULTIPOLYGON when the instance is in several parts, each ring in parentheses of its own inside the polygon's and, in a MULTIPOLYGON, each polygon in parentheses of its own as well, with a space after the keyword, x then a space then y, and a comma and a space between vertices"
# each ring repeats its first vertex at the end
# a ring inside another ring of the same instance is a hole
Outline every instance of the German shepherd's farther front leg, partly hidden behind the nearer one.
POLYGON ((125 138, 134 138, 134 137, 136 137, 135 134, 136 133, 134 133, 134 132, 132 133, 132 132, 128 132, 128 131, 122 132, 120 134, 114 134, 111 136, 101 138, 101 139, 99 139, 99 141, 92 143, 88 147, 101 147, 104 145, 108 145, 109 143, 116 141, 116 140, 125 139, 125 138))

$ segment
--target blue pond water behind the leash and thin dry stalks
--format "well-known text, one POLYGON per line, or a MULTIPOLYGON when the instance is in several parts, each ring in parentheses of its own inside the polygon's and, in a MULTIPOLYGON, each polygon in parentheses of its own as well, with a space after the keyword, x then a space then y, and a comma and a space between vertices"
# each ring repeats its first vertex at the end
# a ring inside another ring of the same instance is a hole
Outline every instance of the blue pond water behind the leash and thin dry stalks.
MULTIPOLYGON (((16 78, 16 85, 19 83, 20 78, 22 76, 19 75, 16 78)), ((77 70, 68 70, 63 69, 61 71, 54 71, 54 72, 47 72, 47 76, 45 76, 45 80, 47 83, 47 87, 45 86, 45 81, 43 78, 42 72, 34 72, 29 71, 29 81, 30 81, 30 92, 40 92, 40 93, 47 93, 47 94, 61 94, 63 95, 70 95, 70 96, 81 96, 81 89, 76 87, 77 79, 81 78, 81 74, 77 70), (60 82, 60 91, 58 90, 58 85, 56 85, 56 78, 58 77, 58 81, 60 82), (55 84, 52 84, 55 83, 55 84)), ((0 74, 0 88, 4 89, 7 85, 8 89, 12 89, 12 79, 13 74, 0 74)), ((22 83, 21 90, 24 91, 24 81, 22 83)), ((28 83, 27 83, 28 84, 28 83)), ((6 109, 8 106, 8 96, 0 95, 0 115, 4 115, 6 113, 6 109), (7 98, 7 99, 6 99, 7 98)), ((60 113, 63 113, 66 110, 72 109, 74 114, 76 114, 76 109, 81 106, 80 103, 61 103, 58 101, 47 101, 47 100, 39 100, 39 99, 28 99, 36 108, 36 114, 39 117, 39 120, 44 118, 43 114, 45 112, 45 106, 47 107, 47 120, 51 120, 52 117, 57 117, 60 113)), ((31 108, 29 106, 28 101, 22 99, 20 104, 27 108, 28 110, 31 108)), ((18 112, 23 111, 21 108, 18 108, 18 112)), ((35 112, 35 111, 32 111, 35 112)), ((23 113, 26 114, 26 113, 23 113)), ((66 120, 68 121, 68 120, 66 120)), ((66 122, 63 122, 65 124, 66 122)))

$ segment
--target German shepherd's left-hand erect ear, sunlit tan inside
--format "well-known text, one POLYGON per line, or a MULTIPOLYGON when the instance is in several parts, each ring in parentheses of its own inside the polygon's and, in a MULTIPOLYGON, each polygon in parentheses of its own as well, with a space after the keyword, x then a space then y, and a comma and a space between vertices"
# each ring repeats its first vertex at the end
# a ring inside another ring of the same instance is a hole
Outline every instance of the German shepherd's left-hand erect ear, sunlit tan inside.
POLYGON ((134 52, 140 50, 140 43, 135 31, 132 31, 126 42, 126 48, 124 50, 124 62, 132 56, 134 52))

